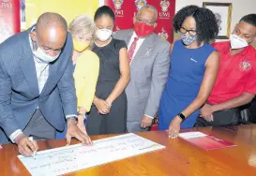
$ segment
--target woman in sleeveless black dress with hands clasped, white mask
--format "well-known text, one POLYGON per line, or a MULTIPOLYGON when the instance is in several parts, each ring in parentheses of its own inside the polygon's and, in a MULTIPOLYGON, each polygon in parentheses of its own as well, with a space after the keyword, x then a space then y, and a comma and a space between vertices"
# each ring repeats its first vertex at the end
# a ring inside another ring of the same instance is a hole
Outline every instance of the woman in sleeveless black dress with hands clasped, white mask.
POLYGON ((89 135, 126 132, 129 81, 127 45, 112 38, 114 13, 110 7, 99 7, 94 17, 96 41, 94 52, 99 57, 96 95, 86 122, 89 135))

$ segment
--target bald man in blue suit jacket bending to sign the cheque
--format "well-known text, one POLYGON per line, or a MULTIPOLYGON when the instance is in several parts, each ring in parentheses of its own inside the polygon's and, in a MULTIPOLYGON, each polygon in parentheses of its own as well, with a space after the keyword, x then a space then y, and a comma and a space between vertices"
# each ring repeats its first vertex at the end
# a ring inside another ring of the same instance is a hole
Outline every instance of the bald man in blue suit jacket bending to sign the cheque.
POLYGON ((0 44, 0 143, 12 141, 31 155, 36 140, 54 139, 66 120, 68 143, 71 137, 91 143, 77 127, 72 51, 67 22, 50 12, 0 44))

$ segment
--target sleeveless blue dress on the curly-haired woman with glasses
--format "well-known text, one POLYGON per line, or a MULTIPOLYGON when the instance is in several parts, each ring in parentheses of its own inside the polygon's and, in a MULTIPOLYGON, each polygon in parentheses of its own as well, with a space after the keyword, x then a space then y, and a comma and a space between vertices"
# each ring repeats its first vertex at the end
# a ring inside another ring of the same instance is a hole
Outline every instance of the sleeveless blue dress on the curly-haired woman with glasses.
MULTIPOLYGON (((199 93, 205 62, 215 49, 208 43, 198 49, 187 49, 181 40, 174 43, 171 71, 159 106, 159 130, 169 128, 173 118, 185 110, 199 93)), ((181 128, 193 127, 200 110, 188 116, 181 128)))

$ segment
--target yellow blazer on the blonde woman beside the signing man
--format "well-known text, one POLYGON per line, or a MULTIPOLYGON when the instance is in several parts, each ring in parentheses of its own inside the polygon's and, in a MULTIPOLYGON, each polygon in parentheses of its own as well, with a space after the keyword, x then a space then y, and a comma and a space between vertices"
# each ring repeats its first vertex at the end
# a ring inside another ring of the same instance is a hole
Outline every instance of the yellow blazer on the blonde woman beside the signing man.
POLYGON ((83 51, 82 55, 77 58, 73 75, 78 108, 82 107, 86 111, 90 111, 95 96, 98 72, 98 55, 93 51, 83 51))

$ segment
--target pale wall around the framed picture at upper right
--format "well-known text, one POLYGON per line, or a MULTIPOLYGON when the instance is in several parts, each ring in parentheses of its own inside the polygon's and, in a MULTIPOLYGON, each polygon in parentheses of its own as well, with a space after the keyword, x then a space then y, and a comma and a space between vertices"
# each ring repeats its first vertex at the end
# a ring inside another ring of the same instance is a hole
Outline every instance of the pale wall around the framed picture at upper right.
MULTIPOLYGON (((249 13, 256 13, 256 0, 176 0, 175 12, 188 5, 203 7, 203 2, 233 4, 231 32, 233 31, 234 25, 239 22, 243 16, 249 13)), ((176 38, 178 36, 175 34, 174 37, 176 38)), ((256 46, 256 42, 254 42, 254 46, 256 46)))

